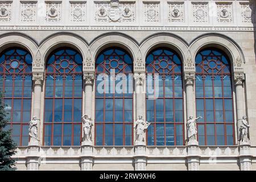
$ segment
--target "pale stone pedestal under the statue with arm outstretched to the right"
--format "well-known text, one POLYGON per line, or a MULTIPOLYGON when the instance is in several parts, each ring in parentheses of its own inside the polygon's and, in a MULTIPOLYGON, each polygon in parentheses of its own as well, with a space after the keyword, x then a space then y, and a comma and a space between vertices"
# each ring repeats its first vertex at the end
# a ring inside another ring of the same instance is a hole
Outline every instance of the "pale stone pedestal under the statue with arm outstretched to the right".
POLYGON ((188 171, 199 171, 200 155, 198 142, 189 141, 187 145, 187 150, 188 171))

